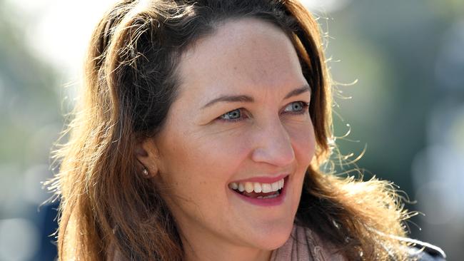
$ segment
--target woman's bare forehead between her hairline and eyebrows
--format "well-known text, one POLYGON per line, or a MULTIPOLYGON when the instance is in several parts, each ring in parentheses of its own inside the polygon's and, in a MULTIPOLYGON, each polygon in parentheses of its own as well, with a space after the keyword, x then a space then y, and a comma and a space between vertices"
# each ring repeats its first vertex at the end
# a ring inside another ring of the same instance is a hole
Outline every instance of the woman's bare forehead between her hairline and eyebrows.
POLYGON ((181 56, 178 73, 179 98, 205 101, 218 93, 278 93, 306 83, 288 36, 270 22, 253 18, 226 21, 196 41, 181 56))

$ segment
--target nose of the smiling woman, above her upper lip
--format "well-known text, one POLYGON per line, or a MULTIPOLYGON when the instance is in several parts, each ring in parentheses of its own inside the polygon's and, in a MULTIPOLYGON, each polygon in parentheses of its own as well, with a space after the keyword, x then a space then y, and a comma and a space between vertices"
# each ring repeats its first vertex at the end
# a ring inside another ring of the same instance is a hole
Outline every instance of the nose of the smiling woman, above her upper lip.
POLYGON ((259 126, 254 134, 253 161, 283 167, 295 160, 290 135, 281 121, 259 126))

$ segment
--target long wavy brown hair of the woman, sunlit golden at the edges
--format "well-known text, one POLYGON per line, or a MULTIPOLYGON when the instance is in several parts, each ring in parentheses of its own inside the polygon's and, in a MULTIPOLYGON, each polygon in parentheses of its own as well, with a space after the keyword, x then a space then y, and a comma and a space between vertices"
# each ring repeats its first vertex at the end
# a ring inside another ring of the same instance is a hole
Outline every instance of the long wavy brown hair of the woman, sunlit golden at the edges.
POLYGON ((253 17, 275 24, 296 48, 312 88, 316 156, 306 172, 296 223, 349 260, 404 260, 408 212, 386 181, 325 173, 333 153, 331 77, 316 19, 296 0, 119 1, 96 26, 84 88, 56 150, 59 259, 182 260, 183 245, 153 179, 137 168, 136 143, 163 128, 176 99, 176 66, 221 23, 253 17), (117 225, 116 225, 117 224, 117 225))

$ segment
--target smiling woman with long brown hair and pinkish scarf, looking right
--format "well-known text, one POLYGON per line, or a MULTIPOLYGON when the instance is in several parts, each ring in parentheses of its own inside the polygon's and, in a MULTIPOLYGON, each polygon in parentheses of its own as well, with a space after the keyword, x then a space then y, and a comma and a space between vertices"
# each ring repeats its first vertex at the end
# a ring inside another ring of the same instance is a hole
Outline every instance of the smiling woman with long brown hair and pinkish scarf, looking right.
POLYGON ((390 183, 319 170, 333 140, 320 37, 298 1, 116 4, 57 154, 59 258, 425 257, 390 183))

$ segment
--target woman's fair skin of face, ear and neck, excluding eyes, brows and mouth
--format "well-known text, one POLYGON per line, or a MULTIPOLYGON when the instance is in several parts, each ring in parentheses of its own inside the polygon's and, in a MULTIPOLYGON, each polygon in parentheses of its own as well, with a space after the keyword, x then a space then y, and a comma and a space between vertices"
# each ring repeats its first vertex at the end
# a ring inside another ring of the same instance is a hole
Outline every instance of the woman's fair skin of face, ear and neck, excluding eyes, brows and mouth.
POLYGON ((186 260, 268 260, 288 240, 315 152, 308 108, 292 107, 309 103, 310 91, 286 98, 308 85, 296 51, 273 24, 231 20, 186 51, 178 73, 166 125, 141 143, 138 160, 173 213, 186 260), (223 95, 254 101, 203 108, 223 95), (223 116, 236 109, 238 121, 223 116), (228 188, 281 174, 288 190, 278 206, 252 205, 228 188))

